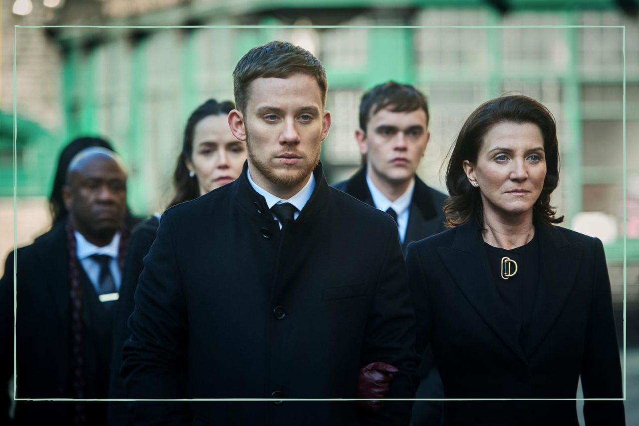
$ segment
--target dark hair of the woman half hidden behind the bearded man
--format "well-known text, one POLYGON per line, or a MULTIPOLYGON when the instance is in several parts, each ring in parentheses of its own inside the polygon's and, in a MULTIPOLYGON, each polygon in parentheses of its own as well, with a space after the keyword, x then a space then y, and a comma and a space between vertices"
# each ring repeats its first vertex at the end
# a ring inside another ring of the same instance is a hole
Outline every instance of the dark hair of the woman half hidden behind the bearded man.
POLYGON ((184 201, 194 200, 199 197, 199 186, 197 185, 197 177, 189 176, 189 168, 187 168, 187 160, 193 155, 193 136, 197 123, 204 120, 210 115, 228 114, 235 109, 235 104, 230 100, 217 102, 215 99, 209 99, 204 104, 196 108, 189 116, 187 125, 184 128, 184 138, 182 139, 182 152, 178 156, 178 162, 173 172, 173 187, 175 188, 175 196, 167 206, 173 207, 184 201))

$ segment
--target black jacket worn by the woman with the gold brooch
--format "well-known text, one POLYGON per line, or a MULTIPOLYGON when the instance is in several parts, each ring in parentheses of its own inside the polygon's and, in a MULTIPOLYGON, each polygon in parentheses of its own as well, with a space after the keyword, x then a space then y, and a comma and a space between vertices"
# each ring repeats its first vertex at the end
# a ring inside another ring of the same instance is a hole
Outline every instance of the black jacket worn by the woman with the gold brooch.
MULTIPOLYGON (((537 225, 540 271, 527 342, 513 333, 473 219, 408 248, 417 349, 446 398, 621 398, 610 281, 598 239, 537 225)), ((587 426, 622 425, 622 402, 587 401, 587 426)), ((446 402, 442 425, 577 426, 574 401, 446 402)))

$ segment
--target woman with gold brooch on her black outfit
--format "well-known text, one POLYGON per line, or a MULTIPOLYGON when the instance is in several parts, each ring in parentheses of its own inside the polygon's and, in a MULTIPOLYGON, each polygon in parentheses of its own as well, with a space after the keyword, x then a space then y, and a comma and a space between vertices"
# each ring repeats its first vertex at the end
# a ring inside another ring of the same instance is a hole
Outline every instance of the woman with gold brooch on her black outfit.
MULTIPOLYGON (((622 398, 603 245, 554 226, 555 120, 525 96, 470 114, 450 152, 452 229, 408 248, 417 350, 430 343, 442 425, 578 425, 574 401, 622 398)), ((586 425, 623 425, 621 401, 586 401, 586 425)))

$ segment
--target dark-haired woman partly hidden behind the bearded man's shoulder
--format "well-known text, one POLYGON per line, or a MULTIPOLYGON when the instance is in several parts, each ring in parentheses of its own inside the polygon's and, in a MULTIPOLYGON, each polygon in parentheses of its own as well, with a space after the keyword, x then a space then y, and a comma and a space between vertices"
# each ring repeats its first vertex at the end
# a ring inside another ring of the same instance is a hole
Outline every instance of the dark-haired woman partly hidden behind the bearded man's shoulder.
MULTIPOLYGON (((184 129, 181 153, 173 173, 174 196, 168 207, 193 200, 242 173, 246 160, 246 145, 235 139, 227 123, 227 114, 235 104, 227 100, 209 99, 189 116, 184 129)), ((142 259, 155 241, 160 215, 143 221, 132 233, 125 261, 122 288, 115 320, 114 345, 111 358, 109 398, 126 398, 125 386, 119 376, 122 366, 122 345, 130 336, 127 320, 133 312, 137 280, 144 268, 142 259)), ((180 403, 173 403, 180 404, 180 403)), ((110 425, 132 425, 132 404, 109 403, 110 425)))

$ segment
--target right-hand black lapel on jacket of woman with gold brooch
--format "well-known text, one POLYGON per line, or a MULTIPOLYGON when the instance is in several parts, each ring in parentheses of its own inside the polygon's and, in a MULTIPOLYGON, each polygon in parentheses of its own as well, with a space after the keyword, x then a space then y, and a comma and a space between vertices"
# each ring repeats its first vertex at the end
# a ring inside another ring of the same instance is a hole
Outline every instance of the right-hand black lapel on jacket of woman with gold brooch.
POLYGON ((562 312, 574 287, 583 246, 569 243, 552 225, 537 226, 539 232, 539 287, 528 333, 526 354, 543 341, 562 312))

